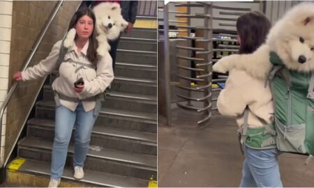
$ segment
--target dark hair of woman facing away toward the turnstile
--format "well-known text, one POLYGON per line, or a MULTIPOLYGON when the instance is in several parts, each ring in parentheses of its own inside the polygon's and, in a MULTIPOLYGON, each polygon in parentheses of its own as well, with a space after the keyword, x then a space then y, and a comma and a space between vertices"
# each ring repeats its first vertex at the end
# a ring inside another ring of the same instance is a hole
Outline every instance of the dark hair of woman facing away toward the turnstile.
POLYGON ((237 32, 241 40, 239 54, 251 54, 265 42, 271 23, 260 12, 253 11, 237 19, 237 32))

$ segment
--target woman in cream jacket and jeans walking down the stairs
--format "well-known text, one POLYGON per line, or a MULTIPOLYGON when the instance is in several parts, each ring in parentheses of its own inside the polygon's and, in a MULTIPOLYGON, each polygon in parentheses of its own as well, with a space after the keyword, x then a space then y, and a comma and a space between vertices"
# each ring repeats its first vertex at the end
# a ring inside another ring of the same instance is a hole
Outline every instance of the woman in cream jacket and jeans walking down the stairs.
POLYGON ((49 187, 57 187, 60 183, 74 124, 76 129, 73 177, 84 178, 84 161, 91 130, 98 115, 96 95, 103 93, 114 79, 110 54, 105 57, 96 54, 98 43, 94 32, 95 22, 95 15, 89 8, 80 8, 70 21, 68 30, 74 28, 77 34, 73 45, 68 48, 63 58, 63 63, 57 65, 62 43, 60 40, 52 47, 52 52, 45 60, 14 74, 15 80, 27 81, 44 77, 59 66, 60 76, 52 84, 57 107, 49 187), (80 78, 81 83, 75 85, 75 81, 80 78))

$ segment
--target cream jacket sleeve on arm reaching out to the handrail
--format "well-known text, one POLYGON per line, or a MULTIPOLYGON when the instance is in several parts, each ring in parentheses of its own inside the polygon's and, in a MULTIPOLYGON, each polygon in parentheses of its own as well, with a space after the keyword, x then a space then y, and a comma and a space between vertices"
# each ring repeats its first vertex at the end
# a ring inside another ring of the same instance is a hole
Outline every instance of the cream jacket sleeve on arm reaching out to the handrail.
POLYGON ((23 81, 44 77, 57 68, 57 60, 59 58, 61 42, 62 40, 54 44, 52 51, 44 60, 22 72, 23 81))

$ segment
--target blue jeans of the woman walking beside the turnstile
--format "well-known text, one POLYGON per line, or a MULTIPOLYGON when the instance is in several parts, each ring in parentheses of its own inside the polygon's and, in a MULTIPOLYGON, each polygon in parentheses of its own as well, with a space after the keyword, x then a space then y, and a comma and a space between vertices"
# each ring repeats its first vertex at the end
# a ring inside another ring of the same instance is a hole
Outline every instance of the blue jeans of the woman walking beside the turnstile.
POLYGON ((283 187, 278 166, 280 151, 245 147, 246 159, 240 187, 283 187))

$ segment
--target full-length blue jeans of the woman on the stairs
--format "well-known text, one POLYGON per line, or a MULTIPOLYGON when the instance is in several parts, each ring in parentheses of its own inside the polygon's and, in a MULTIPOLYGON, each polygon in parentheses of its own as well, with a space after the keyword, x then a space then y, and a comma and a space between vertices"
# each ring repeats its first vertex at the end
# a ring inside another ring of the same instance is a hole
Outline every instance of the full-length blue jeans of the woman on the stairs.
POLYGON ((84 166, 91 140, 91 130, 96 118, 94 110, 84 111, 82 102, 77 105, 75 111, 70 111, 62 105, 56 107, 51 179, 59 180, 61 178, 74 124, 76 129, 73 166, 84 166))

